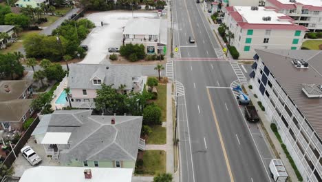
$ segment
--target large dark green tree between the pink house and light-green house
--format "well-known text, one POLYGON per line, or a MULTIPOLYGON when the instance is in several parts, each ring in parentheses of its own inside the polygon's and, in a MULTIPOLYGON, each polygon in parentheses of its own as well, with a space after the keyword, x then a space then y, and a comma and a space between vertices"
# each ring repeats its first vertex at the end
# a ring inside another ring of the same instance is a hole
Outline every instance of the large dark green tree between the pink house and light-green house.
POLYGON ((124 114, 127 111, 125 104, 127 95, 118 93, 112 86, 102 84, 102 88, 96 90, 96 109, 103 112, 124 114))

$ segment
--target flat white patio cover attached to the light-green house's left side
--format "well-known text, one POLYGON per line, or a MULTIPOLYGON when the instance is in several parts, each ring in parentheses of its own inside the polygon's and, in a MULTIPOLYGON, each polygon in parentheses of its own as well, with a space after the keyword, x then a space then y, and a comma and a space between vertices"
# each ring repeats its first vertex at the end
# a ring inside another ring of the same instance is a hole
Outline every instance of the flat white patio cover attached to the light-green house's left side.
POLYGON ((47 132, 41 144, 68 144, 71 132, 47 132))

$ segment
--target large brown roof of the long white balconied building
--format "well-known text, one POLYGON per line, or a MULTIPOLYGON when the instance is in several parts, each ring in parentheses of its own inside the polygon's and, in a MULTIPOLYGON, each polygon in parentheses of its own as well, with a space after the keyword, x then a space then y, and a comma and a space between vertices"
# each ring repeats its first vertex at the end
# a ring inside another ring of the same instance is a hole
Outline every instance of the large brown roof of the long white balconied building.
POLYGON ((303 83, 306 85, 322 83, 322 51, 257 49, 255 51, 322 139, 322 99, 309 99, 302 92, 303 83), (295 68, 292 65, 293 59, 308 62, 308 69, 295 68))

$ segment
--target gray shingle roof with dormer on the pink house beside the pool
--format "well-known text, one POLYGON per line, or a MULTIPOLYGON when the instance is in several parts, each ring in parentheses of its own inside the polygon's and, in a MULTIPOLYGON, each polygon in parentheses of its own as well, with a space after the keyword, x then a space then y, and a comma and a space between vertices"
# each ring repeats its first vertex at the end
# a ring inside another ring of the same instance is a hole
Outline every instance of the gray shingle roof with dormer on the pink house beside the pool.
POLYGON ((69 65, 69 88, 100 89, 100 85, 93 85, 92 79, 104 79, 106 85, 114 84, 118 88, 126 85, 126 90, 132 89, 132 78, 141 77, 142 68, 133 65, 102 65, 102 64, 73 64, 69 65), (109 69, 107 69, 107 67, 109 69))

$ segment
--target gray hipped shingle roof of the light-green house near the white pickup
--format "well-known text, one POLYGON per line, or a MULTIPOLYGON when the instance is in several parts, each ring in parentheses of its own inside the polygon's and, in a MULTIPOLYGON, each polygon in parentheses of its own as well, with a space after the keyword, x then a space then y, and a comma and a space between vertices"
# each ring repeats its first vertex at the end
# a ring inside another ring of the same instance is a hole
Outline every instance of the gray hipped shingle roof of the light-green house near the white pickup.
MULTIPOLYGON (((72 132, 69 150, 60 154, 61 162, 72 159, 135 161, 142 117, 91 114, 92 110, 56 110, 50 118, 43 118, 50 119, 47 132, 72 132), (115 118, 115 125, 111 125, 111 118, 115 118)), ((39 127, 43 125, 37 125, 39 127)))

